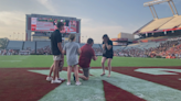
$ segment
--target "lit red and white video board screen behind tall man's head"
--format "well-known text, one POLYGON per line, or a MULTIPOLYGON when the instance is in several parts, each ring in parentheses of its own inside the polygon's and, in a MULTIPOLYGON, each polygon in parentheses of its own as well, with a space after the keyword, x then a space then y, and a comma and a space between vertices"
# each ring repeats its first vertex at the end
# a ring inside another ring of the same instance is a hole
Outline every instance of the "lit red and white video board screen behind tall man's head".
POLYGON ((77 21, 47 18, 31 18, 31 31, 53 32, 57 29, 57 22, 64 23, 64 30, 61 33, 76 33, 77 21))

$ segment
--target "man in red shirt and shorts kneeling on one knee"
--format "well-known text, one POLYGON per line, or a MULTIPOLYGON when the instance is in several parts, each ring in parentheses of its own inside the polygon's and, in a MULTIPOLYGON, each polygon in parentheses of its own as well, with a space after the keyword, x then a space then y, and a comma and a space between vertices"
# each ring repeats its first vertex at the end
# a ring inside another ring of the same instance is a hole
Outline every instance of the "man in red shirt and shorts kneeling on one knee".
POLYGON ((79 65, 79 67, 82 67, 84 75, 79 75, 78 77, 84 80, 88 80, 88 78, 89 78, 89 69, 91 69, 89 64, 91 64, 92 59, 97 60, 95 52, 92 48, 93 44, 94 44, 93 38, 88 38, 87 44, 85 44, 81 48, 78 65, 79 65))

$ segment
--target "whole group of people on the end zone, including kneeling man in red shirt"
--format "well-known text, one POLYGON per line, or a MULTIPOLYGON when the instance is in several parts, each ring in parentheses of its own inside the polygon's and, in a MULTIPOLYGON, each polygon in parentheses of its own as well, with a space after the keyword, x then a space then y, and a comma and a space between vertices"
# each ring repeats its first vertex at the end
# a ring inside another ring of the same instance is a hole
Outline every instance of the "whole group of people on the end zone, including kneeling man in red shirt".
MULTIPOLYGON (((71 85, 71 74, 74 69, 74 81, 75 85, 79 86, 79 78, 83 80, 89 79, 89 69, 91 69, 91 61, 92 59, 97 60, 97 56, 95 55, 94 49, 92 48, 94 44, 93 38, 88 38, 87 43, 79 47, 79 44, 76 43, 76 35, 71 34, 68 37, 68 43, 62 47, 62 33, 61 31, 64 29, 64 24, 58 22, 56 24, 57 30, 55 30, 51 35, 51 48, 53 54, 53 65, 50 68, 50 74, 46 77, 47 81, 51 83, 61 83, 63 78, 60 78, 60 70, 63 68, 64 63, 64 55, 66 54, 66 61, 67 61, 67 82, 66 85, 71 85), (79 58, 78 58, 79 55, 79 58), (83 75, 78 74, 78 65, 83 69, 83 75), (53 72, 53 77, 51 76, 53 72)), ((108 77, 110 77, 111 71, 111 59, 114 56, 113 52, 113 42, 109 40, 108 35, 105 34, 103 36, 103 58, 102 58, 102 67, 103 74, 100 76, 105 76, 105 61, 108 59, 108 77)))

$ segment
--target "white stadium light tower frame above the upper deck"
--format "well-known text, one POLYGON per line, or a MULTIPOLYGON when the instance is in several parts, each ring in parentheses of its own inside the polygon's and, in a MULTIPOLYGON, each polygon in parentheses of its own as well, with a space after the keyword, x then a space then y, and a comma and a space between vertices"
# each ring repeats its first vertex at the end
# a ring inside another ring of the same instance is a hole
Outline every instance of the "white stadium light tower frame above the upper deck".
POLYGON ((150 11, 151 11, 151 13, 152 13, 152 16, 153 16, 155 19, 158 19, 158 15, 157 15, 157 12, 156 12, 153 5, 155 5, 155 4, 160 4, 160 3, 163 3, 163 2, 168 2, 168 3, 169 3, 170 9, 171 9, 173 15, 178 15, 178 14, 179 14, 179 13, 178 13, 178 10, 177 10, 177 8, 175 8, 175 5, 174 5, 173 0, 153 0, 153 1, 150 1, 150 2, 143 3, 143 7, 149 7, 149 8, 150 8, 150 11), (171 4, 172 4, 172 5, 171 5, 171 4), (173 7, 174 9, 173 9, 172 7, 173 7))

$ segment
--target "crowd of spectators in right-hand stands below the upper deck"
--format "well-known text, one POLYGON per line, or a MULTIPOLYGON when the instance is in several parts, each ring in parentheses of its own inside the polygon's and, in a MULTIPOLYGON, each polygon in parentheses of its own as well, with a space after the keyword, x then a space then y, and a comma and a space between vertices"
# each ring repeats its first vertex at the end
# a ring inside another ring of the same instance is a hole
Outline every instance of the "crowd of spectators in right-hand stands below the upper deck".
POLYGON ((121 53, 124 53, 125 56, 132 56, 132 57, 142 57, 141 55, 142 53, 145 53, 147 56, 150 57, 156 57, 156 56, 167 57, 168 54, 177 54, 178 52, 180 52, 180 48, 181 45, 179 45, 179 41, 168 41, 166 43, 160 43, 158 47, 151 47, 148 49, 134 47, 129 49, 124 49, 121 50, 121 53))

